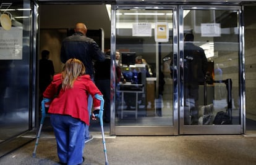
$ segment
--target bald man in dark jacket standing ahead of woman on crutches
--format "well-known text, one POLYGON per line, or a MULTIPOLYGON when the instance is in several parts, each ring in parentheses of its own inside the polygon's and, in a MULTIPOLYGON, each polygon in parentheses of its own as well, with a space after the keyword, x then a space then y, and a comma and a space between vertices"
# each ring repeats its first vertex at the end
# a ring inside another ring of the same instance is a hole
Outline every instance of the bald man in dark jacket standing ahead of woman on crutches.
MULTIPOLYGON (((101 51, 98 44, 86 36, 87 26, 84 23, 75 25, 75 33, 68 36, 62 41, 61 46, 61 62, 66 63, 70 58, 77 58, 85 65, 86 73, 94 80, 93 61, 104 61, 105 54, 101 51)), ((92 96, 88 97, 88 111, 92 110, 92 96)), ((86 127, 85 129, 89 129, 86 127)), ((93 139, 89 130, 85 134, 85 143, 93 139)))

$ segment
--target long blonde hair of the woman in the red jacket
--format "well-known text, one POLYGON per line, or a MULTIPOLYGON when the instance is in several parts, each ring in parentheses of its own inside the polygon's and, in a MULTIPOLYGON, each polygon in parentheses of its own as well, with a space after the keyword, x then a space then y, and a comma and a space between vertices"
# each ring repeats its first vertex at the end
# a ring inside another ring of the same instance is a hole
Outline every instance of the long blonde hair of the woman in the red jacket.
POLYGON ((80 60, 67 60, 62 70, 62 89, 73 88, 75 80, 82 74, 85 74, 85 66, 80 60))

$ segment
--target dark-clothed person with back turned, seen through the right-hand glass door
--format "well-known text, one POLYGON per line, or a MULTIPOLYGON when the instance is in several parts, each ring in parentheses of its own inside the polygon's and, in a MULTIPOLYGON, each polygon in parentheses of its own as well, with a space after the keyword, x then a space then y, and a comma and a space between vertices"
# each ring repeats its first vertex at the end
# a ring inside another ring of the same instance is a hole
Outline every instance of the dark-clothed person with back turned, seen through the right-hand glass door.
POLYGON ((184 111, 185 124, 198 124, 198 89, 207 73, 207 57, 204 50, 193 44, 194 34, 186 34, 184 39, 184 101, 188 107, 184 111))

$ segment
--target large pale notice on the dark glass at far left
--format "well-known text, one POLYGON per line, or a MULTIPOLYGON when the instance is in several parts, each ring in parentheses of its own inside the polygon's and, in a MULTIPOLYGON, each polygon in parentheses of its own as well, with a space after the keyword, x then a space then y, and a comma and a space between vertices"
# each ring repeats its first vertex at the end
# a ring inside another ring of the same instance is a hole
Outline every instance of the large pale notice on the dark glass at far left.
POLYGON ((21 60, 22 39, 22 27, 12 27, 11 30, 0 27, 0 60, 21 60))

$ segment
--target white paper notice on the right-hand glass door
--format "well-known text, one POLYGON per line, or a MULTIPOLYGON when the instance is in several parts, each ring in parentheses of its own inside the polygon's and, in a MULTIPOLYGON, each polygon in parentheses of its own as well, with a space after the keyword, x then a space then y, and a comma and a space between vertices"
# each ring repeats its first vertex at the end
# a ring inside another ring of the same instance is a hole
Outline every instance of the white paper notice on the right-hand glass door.
POLYGON ((201 23, 202 37, 219 37, 221 36, 220 23, 201 23))

